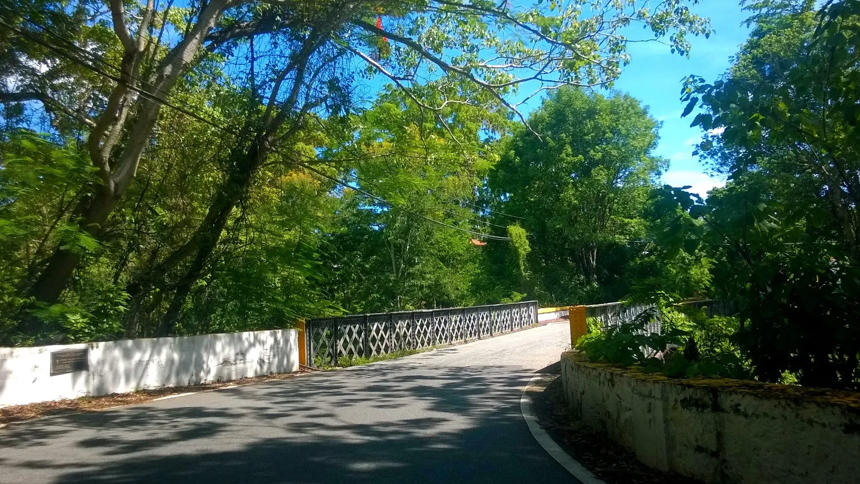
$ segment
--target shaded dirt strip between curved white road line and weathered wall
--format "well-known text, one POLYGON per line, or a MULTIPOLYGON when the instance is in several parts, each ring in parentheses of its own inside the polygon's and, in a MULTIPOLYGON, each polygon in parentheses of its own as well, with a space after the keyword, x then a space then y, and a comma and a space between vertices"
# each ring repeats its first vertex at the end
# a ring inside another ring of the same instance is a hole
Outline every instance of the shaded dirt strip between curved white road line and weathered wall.
POLYGON ((562 449, 608 484, 702 484, 689 477, 646 467, 636 456, 606 437, 605 432, 577 420, 568 410, 562 379, 556 374, 544 391, 532 396, 540 426, 562 449))

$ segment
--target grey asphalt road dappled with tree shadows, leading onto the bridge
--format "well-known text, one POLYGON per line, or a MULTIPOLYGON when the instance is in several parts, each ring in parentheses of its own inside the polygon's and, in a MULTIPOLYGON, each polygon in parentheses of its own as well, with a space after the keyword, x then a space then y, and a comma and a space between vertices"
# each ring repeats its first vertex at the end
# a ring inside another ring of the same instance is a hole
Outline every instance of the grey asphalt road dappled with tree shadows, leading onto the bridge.
POLYGON ((519 410, 565 323, 341 371, 0 429, 8 484, 578 482, 519 410))

